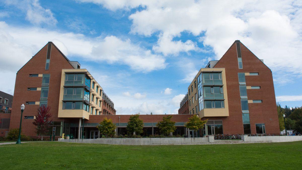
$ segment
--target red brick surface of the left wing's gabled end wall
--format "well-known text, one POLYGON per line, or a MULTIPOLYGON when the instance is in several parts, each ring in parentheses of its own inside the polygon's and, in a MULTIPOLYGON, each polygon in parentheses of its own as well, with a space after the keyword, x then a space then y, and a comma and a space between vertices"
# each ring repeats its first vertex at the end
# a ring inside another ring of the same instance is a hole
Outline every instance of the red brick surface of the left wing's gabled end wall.
MULTIPOLYGON (((22 67, 16 76, 14 101, 11 112, 10 129, 19 128, 21 110, 20 106, 26 101, 40 101, 41 91, 28 91, 27 87, 41 87, 42 77, 29 77, 29 74, 50 74, 48 103, 51 107, 53 121, 63 121, 58 118, 59 93, 61 85, 62 69, 73 69, 69 62, 52 44, 49 70, 45 70, 47 55, 47 45, 44 46, 24 67, 22 67)), ((27 136, 36 136, 33 119, 24 119, 24 116, 34 116, 37 114, 39 105, 25 105, 22 116, 22 133, 27 136)))

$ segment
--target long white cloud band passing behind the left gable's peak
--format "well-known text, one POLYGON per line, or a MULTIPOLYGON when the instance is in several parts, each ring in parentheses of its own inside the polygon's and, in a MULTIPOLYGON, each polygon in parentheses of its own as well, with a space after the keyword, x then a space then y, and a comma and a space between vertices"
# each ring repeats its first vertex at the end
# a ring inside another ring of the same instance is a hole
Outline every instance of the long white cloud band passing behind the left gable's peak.
POLYGON ((47 41, 53 41, 66 56, 126 64, 135 71, 150 72, 166 66, 162 56, 132 44, 129 39, 121 40, 115 36, 88 38, 72 32, 62 33, 36 27, 18 28, 0 21, 0 37, 0 67, 7 70, 19 69, 47 41))

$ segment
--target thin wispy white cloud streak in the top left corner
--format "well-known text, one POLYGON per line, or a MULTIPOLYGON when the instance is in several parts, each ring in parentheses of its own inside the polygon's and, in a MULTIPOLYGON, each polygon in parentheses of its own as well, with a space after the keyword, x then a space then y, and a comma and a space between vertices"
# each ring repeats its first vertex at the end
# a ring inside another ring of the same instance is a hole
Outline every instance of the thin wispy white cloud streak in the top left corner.
POLYGON ((57 20, 50 9, 43 8, 39 0, 6 0, 7 5, 14 5, 26 13, 26 19, 34 25, 56 25, 57 20))

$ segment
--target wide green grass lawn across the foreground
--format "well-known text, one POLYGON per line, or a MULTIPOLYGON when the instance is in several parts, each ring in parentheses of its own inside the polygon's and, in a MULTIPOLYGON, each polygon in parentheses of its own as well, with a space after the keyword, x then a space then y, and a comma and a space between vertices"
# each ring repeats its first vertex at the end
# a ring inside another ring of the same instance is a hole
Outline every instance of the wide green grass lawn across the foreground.
POLYGON ((129 146, 67 142, 0 145, 1 169, 300 169, 302 141, 129 146))

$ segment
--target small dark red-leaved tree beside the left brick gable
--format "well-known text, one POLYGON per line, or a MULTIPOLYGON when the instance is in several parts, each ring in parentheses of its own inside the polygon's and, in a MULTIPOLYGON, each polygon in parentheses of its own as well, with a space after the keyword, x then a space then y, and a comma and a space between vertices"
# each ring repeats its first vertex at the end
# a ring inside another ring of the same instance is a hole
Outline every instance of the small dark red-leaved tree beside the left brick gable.
POLYGON ((49 120, 51 117, 51 114, 49 113, 50 107, 45 105, 42 105, 38 107, 37 109, 37 115, 36 119, 34 120, 33 124, 36 125, 36 133, 38 134, 39 138, 40 135, 42 135, 42 140, 43 136, 47 135, 47 133, 50 130, 50 125, 52 123, 52 120, 49 120))

